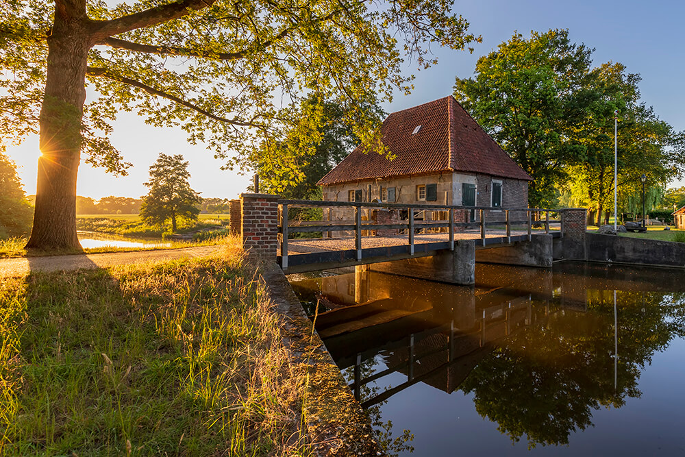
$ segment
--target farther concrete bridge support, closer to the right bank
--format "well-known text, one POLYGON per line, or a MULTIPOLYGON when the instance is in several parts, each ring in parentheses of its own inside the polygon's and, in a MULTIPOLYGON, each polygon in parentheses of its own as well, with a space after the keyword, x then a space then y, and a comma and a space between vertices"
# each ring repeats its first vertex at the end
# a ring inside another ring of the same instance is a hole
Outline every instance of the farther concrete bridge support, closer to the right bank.
POLYGON ((477 262, 523 265, 524 267, 552 266, 552 236, 532 235, 531 240, 503 247, 479 249, 475 254, 477 262))

